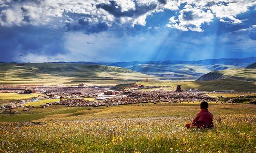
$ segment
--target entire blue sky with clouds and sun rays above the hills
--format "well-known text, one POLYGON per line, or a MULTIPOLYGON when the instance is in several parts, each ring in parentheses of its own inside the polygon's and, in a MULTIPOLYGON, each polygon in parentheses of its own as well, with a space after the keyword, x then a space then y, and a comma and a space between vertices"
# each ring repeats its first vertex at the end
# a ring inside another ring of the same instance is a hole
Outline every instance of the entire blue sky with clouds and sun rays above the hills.
POLYGON ((1 62, 256 56, 256 0, 0 0, 1 62))

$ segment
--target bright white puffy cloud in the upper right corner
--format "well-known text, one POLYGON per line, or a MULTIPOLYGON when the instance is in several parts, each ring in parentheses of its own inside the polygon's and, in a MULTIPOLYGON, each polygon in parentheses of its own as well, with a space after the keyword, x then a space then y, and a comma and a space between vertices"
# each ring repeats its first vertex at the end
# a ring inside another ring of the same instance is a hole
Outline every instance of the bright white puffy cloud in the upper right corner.
POLYGON ((256 0, 183 0, 187 5, 179 11, 178 19, 170 18, 166 25, 182 31, 201 32, 203 23, 210 23, 213 18, 219 18, 220 22, 239 24, 242 20, 238 14, 245 13, 249 7, 256 5, 256 0), (186 14, 190 12, 191 19, 186 20, 186 14), (184 14, 185 13, 185 14, 184 14))

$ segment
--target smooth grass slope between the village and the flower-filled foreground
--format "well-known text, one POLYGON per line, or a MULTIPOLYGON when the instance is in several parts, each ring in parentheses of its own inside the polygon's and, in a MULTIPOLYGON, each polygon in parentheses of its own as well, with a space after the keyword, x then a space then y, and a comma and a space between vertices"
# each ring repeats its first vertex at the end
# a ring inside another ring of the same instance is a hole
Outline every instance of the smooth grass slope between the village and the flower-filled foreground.
MULTIPOLYGON (((247 113, 253 113, 255 105, 238 105, 238 104, 220 104, 210 102, 210 110, 215 115, 233 113, 241 114, 246 109, 247 113), (236 107, 239 106, 239 107, 236 107), (224 110, 222 108, 229 107, 224 110)), ((162 117, 162 116, 185 116, 194 115, 200 109, 199 102, 183 102, 177 104, 169 103, 143 103, 142 106, 137 104, 122 105, 99 108, 91 107, 67 107, 61 105, 52 105, 46 108, 34 108, 28 112, 22 112, 22 108, 15 109, 19 111, 18 115, 1 115, 0 122, 22 122, 32 120, 84 120, 84 119, 113 119, 113 118, 137 118, 137 117, 162 117), (143 107, 144 106, 144 107, 143 107), (182 109, 184 108, 184 109, 182 109)))

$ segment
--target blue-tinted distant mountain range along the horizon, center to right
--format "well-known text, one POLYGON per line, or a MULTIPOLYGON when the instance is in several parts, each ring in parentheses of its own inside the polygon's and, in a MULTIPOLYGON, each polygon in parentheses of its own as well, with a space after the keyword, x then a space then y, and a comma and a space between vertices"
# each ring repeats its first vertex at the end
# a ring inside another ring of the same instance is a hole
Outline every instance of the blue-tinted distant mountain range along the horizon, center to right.
POLYGON ((105 65, 126 68, 132 71, 154 75, 162 79, 193 79, 196 80, 204 74, 212 71, 222 71, 227 69, 244 68, 256 62, 256 57, 243 59, 221 58, 206 59, 197 61, 130 61, 130 62, 52 62, 52 63, 72 63, 105 65))

